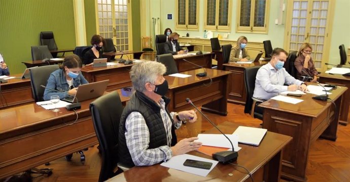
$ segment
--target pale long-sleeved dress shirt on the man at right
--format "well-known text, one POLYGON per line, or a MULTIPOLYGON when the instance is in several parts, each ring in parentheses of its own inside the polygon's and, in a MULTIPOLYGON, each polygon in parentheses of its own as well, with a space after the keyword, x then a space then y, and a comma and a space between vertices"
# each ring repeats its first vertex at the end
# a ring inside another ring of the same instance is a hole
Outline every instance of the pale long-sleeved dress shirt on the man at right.
POLYGON ((288 86, 284 84, 300 86, 302 83, 302 81, 291 76, 285 68, 276 70, 269 62, 258 70, 253 97, 269 100, 288 90, 288 86))

